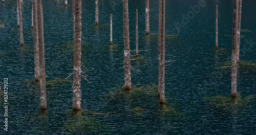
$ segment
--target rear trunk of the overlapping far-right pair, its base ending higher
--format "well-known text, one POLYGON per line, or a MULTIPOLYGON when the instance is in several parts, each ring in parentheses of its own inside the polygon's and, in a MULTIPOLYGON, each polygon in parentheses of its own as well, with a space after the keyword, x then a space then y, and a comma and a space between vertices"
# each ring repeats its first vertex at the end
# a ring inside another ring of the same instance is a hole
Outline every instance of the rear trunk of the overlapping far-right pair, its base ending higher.
POLYGON ((242 0, 238 0, 238 47, 237 47, 237 63, 239 63, 239 52, 240 52, 241 14, 242 14, 242 0))

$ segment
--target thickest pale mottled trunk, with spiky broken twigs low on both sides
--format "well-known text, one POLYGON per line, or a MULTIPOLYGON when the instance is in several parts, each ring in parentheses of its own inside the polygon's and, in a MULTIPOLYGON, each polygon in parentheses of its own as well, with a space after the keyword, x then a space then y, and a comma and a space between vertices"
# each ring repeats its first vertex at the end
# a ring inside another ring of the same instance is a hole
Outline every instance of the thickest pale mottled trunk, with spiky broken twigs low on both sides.
POLYGON ((73 0, 74 19, 74 64, 73 64, 73 110, 80 110, 81 107, 81 0, 73 0))

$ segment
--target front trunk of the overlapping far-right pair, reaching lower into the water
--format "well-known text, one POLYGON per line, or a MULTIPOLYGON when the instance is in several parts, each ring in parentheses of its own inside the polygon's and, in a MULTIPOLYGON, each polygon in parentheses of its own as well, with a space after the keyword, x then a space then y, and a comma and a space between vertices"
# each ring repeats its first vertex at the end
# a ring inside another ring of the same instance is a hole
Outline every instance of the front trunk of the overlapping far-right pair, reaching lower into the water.
POLYGON ((238 0, 234 0, 233 10, 233 41, 231 69, 231 98, 237 98, 237 47, 238 47, 238 0))

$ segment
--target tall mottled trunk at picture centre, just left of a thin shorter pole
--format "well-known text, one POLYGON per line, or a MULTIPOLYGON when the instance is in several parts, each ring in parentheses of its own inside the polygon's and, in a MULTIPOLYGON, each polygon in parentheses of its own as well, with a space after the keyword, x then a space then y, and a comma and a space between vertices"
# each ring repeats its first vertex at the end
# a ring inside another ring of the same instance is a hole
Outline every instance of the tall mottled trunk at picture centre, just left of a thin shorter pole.
POLYGON ((123 40, 124 40, 124 89, 131 90, 130 39, 128 0, 123 0, 123 40))

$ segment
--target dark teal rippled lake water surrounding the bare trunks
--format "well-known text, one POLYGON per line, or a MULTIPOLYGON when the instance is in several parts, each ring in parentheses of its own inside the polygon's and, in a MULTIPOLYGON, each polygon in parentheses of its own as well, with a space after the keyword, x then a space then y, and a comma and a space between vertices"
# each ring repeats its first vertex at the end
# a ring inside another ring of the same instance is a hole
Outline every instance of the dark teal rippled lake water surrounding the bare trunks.
POLYGON ((157 100, 158 1, 150 1, 150 36, 145 36, 144 1, 129 1, 130 48, 135 50, 135 12, 139 13, 140 58, 131 62, 134 89, 123 86, 122 1, 82 2, 82 63, 88 83, 81 79, 80 113, 72 112, 73 22, 72 2, 42 1, 47 80, 47 113, 40 112, 39 87, 33 84, 34 53, 31 2, 24 1, 25 47, 19 46, 16 2, 0 4, 0 84, 8 78, 8 130, 4 130, 4 97, 0 99, 0 134, 256 134, 256 18, 255 2, 243 1, 240 98, 229 99, 232 1, 166 1, 166 106, 157 100), (219 5, 219 51, 215 51, 215 6, 219 5), (113 14, 113 43, 109 45, 109 17, 113 14), (186 16, 186 17, 184 17, 186 16), (175 25, 176 24, 176 25, 175 25), (177 27, 177 24, 179 27, 177 27), (170 35, 175 36, 170 36, 170 35), (178 35, 177 35, 178 34, 178 35), (169 56, 173 55, 173 56, 169 56), (176 56, 176 57, 174 57, 176 56), (138 85, 137 85, 138 84, 138 85), (219 96, 218 96, 219 95, 219 96), (225 98, 225 97, 226 98, 225 98))

